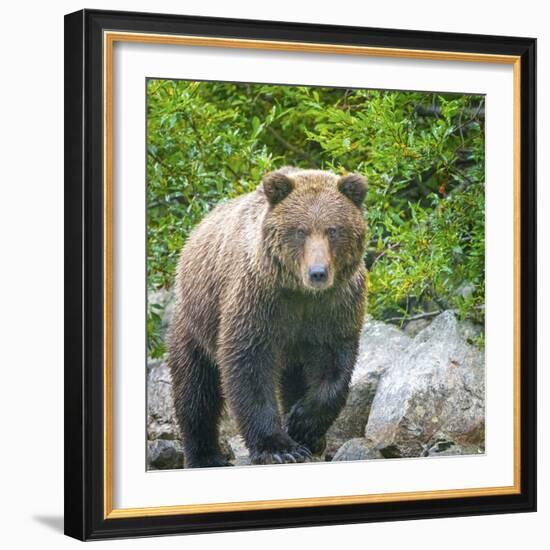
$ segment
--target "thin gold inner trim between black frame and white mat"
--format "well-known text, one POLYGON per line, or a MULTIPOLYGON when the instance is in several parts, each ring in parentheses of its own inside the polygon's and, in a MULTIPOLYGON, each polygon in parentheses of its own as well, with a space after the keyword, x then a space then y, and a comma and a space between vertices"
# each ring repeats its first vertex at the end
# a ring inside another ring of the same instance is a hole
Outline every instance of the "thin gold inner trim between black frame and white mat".
POLYGON ((411 500, 434 500, 479 496, 511 495, 521 493, 521 433, 520 433, 520 222, 521 222, 521 61, 518 56, 479 54, 468 52, 445 52, 369 46, 346 46, 339 44, 315 44, 273 40, 249 40, 104 31, 103 34, 103 114, 104 114, 104 518, 135 518, 198 514, 212 512, 235 512, 247 510, 273 510, 280 508, 304 508, 308 506, 334 506, 399 502, 411 500), (462 488, 436 491, 413 491, 350 496, 327 496, 245 502, 221 502, 209 504, 182 504, 150 508, 113 508, 113 364, 112 364, 112 285, 113 285, 113 46, 115 42, 166 44, 181 46, 207 46, 217 48, 259 49, 271 51, 305 52, 337 55, 361 55, 424 59, 432 61, 463 61, 475 63, 498 63, 513 65, 514 81, 514 484, 505 487, 462 488))

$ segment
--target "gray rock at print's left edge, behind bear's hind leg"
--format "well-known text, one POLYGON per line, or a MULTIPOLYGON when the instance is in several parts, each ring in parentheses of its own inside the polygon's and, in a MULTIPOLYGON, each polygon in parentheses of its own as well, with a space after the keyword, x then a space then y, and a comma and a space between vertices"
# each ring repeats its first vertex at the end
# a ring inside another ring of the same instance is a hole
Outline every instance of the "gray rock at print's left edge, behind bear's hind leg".
POLYGON ((147 365, 147 437, 148 439, 178 439, 174 419, 172 379, 163 361, 152 359, 147 365))

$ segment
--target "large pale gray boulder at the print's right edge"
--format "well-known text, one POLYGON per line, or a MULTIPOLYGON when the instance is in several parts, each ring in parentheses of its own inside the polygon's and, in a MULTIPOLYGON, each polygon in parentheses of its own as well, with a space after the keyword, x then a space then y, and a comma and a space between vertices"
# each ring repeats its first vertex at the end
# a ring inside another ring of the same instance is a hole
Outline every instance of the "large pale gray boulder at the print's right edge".
POLYGON ((365 437, 385 457, 426 456, 438 440, 483 447, 484 355, 470 330, 443 312, 381 377, 365 437))

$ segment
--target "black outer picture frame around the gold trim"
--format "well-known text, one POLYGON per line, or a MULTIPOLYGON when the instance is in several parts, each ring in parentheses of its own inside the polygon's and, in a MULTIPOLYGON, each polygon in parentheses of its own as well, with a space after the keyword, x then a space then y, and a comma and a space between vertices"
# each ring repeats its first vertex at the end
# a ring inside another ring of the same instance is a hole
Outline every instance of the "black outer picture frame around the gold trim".
POLYGON ((65 533, 80 540, 536 510, 536 40, 82 10, 65 16, 65 533), (103 32, 513 55, 521 66, 520 424, 517 494, 105 517, 103 32))

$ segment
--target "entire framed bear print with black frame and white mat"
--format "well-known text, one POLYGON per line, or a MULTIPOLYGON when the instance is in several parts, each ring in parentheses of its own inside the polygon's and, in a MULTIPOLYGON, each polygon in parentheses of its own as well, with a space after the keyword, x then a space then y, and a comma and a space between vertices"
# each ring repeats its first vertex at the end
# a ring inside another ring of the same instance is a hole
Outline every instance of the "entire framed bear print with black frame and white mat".
POLYGON ((65 18, 65 530, 534 511, 531 38, 65 18))

